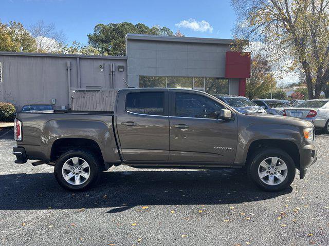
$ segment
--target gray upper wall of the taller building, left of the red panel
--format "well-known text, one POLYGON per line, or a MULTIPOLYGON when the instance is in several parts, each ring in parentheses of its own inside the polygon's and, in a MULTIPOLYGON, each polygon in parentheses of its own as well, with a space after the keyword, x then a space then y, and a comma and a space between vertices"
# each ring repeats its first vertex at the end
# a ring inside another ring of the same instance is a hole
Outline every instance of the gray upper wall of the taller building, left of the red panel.
POLYGON ((225 77, 228 44, 184 43, 126 38, 127 76, 139 87, 140 75, 225 77))

